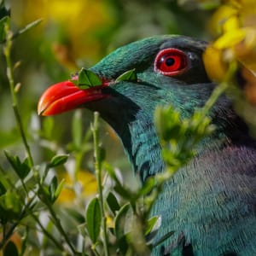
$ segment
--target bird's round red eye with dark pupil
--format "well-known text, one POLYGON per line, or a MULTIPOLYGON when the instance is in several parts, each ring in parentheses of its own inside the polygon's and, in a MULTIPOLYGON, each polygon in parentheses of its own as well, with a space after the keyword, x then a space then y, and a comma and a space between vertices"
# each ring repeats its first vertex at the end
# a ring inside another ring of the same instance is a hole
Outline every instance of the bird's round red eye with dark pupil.
POLYGON ((154 71, 162 73, 165 76, 183 73, 187 67, 188 57, 180 49, 163 49, 154 61, 154 71))

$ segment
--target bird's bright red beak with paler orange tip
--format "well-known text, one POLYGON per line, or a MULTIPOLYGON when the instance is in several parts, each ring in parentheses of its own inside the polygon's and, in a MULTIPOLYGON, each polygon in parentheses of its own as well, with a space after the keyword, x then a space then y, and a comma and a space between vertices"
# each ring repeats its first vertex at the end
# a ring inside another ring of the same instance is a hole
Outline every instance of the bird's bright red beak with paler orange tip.
POLYGON ((54 115, 79 108, 85 102, 93 102, 107 97, 102 94, 106 84, 81 90, 70 81, 54 84, 44 91, 38 102, 38 114, 54 115))

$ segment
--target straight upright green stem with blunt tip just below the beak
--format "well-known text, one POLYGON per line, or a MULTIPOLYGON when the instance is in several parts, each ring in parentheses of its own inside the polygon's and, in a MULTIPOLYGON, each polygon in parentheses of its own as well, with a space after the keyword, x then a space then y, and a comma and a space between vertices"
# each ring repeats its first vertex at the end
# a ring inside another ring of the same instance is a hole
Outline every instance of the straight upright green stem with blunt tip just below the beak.
POLYGON ((102 160, 99 147, 99 113, 94 113, 94 124, 92 125, 93 143, 94 143, 94 157, 95 157, 95 171, 96 182, 98 187, 99 201, 102 212, 103 220, 103 245, 106 256, 109 256, 108 249, 108 230, 107 230, 107 218, 104 211, 103 203, 103 189, 102 189, 102 160))

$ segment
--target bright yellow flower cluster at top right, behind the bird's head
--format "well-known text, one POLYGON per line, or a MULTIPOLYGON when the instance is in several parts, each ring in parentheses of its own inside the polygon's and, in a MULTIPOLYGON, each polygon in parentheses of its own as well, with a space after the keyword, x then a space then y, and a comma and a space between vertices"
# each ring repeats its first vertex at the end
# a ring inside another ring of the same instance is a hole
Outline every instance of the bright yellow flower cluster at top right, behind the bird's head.
POLYGON ((256 1, 228 0, 212 16, 210 27, 218 38, 206 49, 203 60, 216 81, 232 61, 256 73, 256 1))

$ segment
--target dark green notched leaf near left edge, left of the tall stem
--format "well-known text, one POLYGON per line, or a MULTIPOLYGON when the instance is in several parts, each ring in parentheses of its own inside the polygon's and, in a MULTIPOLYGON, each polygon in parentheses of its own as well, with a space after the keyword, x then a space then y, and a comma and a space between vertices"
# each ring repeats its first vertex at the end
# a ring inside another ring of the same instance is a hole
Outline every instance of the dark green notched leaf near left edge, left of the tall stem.
POLYGON ((16 174, 21 179, 24 179, 31 170, 31 166, 29 165, 28 158, 26 158, 23 162, 21 162, 20 158, 17 155, 13 156, 8 151, 5 151, 5 150, 4 150, 4 154, 7 160, 9 160, 9 163, 15 170, 16 174))

